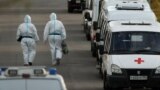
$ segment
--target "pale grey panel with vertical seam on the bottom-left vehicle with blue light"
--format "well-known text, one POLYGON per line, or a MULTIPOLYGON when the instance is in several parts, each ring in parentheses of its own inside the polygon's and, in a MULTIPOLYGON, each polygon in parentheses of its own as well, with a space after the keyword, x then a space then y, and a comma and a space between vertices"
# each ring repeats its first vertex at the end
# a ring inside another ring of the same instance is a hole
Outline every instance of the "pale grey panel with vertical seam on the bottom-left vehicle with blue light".
POLYGON ((4 79, 0 80, 0 90, 63 90, 56 79, 4 79))

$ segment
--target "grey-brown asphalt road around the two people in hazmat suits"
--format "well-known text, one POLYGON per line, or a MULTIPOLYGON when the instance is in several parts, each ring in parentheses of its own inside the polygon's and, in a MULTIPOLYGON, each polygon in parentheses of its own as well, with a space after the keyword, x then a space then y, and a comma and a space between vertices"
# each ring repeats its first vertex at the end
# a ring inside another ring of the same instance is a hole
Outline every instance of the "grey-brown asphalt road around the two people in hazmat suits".
POLYGON ((34 65, 51 66, 48 44, 42 41, 43 30, 51 12, 57 13, 67 31, 69 54, 57 66, 68 90, 103 90, 102 79, 96 70, 96 59, 90 53, 90 42, 85 38, 81 13, 67 13, 67 0, 0 0, 0 66, 22 66, 20 43, 16 31, 26 14, 31 15, 40 41, 34 65))

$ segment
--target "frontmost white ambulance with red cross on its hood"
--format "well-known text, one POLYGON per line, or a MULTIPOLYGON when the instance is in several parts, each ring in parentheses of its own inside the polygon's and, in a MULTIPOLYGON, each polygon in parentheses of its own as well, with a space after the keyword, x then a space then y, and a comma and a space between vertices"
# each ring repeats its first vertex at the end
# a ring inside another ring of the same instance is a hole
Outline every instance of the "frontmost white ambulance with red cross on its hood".
POLYGON ((160 23, 112 21, 102 57, 104 90, 160 89, 160 23))

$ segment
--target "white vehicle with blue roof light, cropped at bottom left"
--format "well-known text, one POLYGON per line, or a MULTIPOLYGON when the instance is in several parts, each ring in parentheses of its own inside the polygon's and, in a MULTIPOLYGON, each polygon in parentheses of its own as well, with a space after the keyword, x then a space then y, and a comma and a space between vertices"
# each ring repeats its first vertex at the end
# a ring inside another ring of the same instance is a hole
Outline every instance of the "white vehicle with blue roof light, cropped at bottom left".
POLYGON ((0 90, 67 90, 55 68, 8 67, 0 70, 0 90))

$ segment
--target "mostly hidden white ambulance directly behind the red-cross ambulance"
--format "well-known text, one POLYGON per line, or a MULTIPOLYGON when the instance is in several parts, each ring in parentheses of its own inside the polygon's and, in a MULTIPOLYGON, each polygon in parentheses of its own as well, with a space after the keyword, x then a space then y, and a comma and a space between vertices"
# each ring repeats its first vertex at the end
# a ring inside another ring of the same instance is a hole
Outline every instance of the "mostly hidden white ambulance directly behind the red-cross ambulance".
POLYGON ((123 20, 157 21, 157 18, 151 8, 148 7, 148 4, 143 4, 141 2, 121 2, 115 6, 103 7, 98 19, 98 28, 92 31, 91 48, 93 48, 92 53, 97 56, 98 64, 101 63, 99 49, 103 49, 103 47, 101 48, 99 46, 103 46, 104 34, 107 30, 106 25, 112 21, 123 20))

